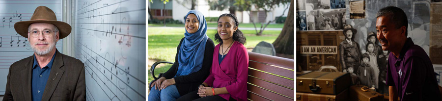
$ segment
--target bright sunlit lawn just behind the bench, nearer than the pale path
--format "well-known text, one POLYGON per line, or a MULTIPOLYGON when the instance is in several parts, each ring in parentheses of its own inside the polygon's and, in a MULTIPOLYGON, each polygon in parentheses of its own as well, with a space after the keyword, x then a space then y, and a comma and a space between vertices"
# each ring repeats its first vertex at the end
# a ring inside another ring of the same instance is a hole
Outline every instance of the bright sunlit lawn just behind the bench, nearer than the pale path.
MULTIPOLYGON (((262 36, 256 36, 255 30, 242 30, 247 38, 246 48, 253 48, 259 42, 265 41, 268 43, 273 43, 276 37, 281 32, 280 30, 265 30, 262 36)), ((149 27, 148 29, 148 59, 155 59, 161 61, 175 61, 176 48, 184 37, 185 29, 178 27, 149 27)), ((208 30, 207 35, 211 38, 215 45, 215 29, 208 30)), ((171 65, 165 65, 162 67, 157 67, 155 74, 158 76, 159 73, 166 72, 171 65)), ((148 82, 153 80, 151 74, 148 76, 148 82)))

